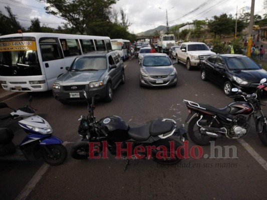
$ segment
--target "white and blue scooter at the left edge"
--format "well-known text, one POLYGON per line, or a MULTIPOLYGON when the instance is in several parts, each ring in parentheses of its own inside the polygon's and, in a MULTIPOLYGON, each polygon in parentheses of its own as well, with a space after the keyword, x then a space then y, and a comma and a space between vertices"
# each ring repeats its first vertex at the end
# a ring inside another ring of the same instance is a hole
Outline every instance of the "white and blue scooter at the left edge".
POLYGON ((13 111, 1 119, 19 119, 19 125, 25 130, 27 136, 16 147, 13 143, 14 132, 7 127, 0 128, 0 160, 37 160, 43 158, 50 165, 61 164, 67 157, 67 149, 63 141, 52 135, 53 129, 41 116, 34 115, 35 109, 29 105, 13 109, 5 102, 0 102, 0 108, 10 108, 13 111), (34 115, 34 116, 33 116, 34 115))

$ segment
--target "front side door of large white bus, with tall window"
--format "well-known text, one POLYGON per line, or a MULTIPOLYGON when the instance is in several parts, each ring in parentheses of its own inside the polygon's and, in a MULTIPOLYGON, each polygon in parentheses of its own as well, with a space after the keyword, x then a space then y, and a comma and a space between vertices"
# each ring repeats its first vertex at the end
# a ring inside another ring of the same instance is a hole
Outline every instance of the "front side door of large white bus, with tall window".
POLYGON ((65 62, 62 50, 57 42, 57 38, 40 39, 40 49, 43 59, 44 71, 47 78, 48 89, 52 89, 55 80, 64 72, 65 62))

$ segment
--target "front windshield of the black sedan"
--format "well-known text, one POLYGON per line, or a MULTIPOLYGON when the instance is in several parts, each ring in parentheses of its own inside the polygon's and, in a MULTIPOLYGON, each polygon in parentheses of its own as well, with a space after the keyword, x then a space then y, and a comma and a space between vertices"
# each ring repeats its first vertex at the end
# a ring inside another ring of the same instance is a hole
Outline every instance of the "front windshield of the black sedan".
POLYGON ((236 70, 261 69, 261 67, 258 66, 249 57, 227 57, 226 62, 229 69, 236 69, 236 70))

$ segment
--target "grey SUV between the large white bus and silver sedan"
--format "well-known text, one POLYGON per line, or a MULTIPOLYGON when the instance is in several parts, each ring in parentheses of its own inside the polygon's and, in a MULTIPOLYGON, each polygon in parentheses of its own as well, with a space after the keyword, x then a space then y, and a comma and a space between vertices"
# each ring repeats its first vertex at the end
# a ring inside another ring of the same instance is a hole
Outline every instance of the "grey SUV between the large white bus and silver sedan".
POLYGON ((117 51, 96 51, 76 57, 67 72, 53 84, 53 94, 62 103, 84 101, 89 97, 113 99, 113 89, 125 83, 124 65, 117 51))

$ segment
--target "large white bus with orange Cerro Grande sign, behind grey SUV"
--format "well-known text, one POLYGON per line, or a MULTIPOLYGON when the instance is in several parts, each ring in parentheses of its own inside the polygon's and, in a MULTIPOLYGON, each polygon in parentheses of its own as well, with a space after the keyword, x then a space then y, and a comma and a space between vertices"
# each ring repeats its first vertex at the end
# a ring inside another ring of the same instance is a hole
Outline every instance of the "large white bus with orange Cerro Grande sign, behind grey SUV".
POLYGON ((0 83, 8 91, 47 91, 77 55, 112 50, 109 37, 27 32, 0 36, 0 83))

